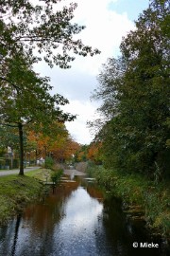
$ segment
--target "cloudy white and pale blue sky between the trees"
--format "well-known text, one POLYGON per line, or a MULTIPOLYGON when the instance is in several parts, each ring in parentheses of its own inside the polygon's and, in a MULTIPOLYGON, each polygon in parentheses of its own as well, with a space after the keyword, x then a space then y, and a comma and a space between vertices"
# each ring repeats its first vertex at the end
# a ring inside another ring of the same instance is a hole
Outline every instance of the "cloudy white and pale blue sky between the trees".
POLYGON ((97 87, 97 75, 108 58, 120 55, 119 46, 123 36, 134 29, 134 20, 148 7, 149 0, 63 0, 65 6, 76 2, 74 23, 85 25, 78 34, 85 45, 101 51, 93 57, 77 56, 70 69, 50 68, 39 63, 35 70, 48 76, 53 85, 52 93, 59 93, 70 101, 63 107, 65 112, 77 115, 75 121, 66 122, 66 127, 76 142, 90 144, 93 135, 87 121, 97 118, 99 103, 91 101, 93 90, 97 87))

